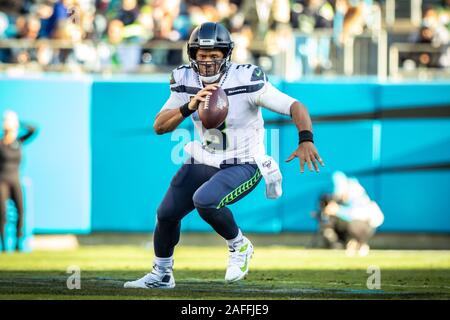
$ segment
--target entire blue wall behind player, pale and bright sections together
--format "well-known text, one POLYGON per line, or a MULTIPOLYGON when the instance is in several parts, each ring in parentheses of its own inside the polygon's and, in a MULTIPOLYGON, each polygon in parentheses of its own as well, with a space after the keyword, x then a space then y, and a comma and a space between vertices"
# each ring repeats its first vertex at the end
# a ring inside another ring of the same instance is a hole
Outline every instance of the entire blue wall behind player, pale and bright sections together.
MULTIPOLYGON (((261 182, 232 205, 245 231, 315 230, 310 212, 331 189, 332 172, 343 170, 356 175, 380 204, 385 214, 380 231, 450 232, 448 112, 414 119, 379 116, 448 107, 450 82, 271 80, 317 119, 315 140, 326 166, 320 174, 300 174, 298 161, 285 163, 296 147, 296 129, 288 117, 264 110, 266 129, 276 129, 267 130, 269 150, 272 135, 280 137, 284 194, 265 199, 261 182)), ((170 160, 179 137, 152 131, 169 93, 166 76, 0 78, 0 110, 14 109, 40 128, 25 147, 23 165, 35 185, 36 232, 153 230, 156 209, 179 167, 170 160)), ((182 127, 192 131, 190 120, 182 127)), ((192 212, 182 230, 211 228, 192 212)))

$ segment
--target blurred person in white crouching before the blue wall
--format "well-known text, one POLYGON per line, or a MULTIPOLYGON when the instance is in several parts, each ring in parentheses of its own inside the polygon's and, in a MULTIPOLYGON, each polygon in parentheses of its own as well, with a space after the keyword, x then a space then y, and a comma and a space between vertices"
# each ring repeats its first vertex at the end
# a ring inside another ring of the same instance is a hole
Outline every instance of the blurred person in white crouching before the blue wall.
POLYGON ((346 254, 366 256, 369 239, 384 221, 379 206, 370 199, 354 177, 333 173, 333 193, 321 198, 322 217, 326 219, 322 234, 331 248, 346 247, 346 254))

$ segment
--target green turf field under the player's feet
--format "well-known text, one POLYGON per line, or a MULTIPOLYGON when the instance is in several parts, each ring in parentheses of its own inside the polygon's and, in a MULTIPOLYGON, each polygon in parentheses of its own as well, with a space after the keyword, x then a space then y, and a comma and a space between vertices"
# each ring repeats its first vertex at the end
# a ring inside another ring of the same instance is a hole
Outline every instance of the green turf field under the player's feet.
POLYGON ((450 251, 372 250, 368 257, 300 247, 255 247, 250 273, 225 284, 225 247, 180 246, 172 290, 123 289, 150 267, 138 246, 85 246, 73 251, 0 254, 0 299, 449 299, 450 251), (81 289, 69 290, 69 266, 81 269, 81 289), (369 266, 381 289, 369 290, 369 266))

